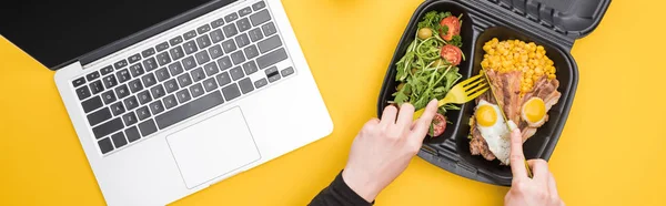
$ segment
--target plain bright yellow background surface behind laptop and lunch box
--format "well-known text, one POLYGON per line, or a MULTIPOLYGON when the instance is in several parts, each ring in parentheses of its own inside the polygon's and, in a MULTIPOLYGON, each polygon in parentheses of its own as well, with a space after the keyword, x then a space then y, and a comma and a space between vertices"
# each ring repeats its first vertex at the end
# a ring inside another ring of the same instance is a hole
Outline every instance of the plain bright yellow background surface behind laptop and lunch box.
MULTIPOLYGON (((333 117, 332 135, 174 205, 305 205, 344 166, 422 0, 283 0, 333 117)), ((567 205, 664 205, 664 1, 616 0, 572 51, 578 91, 551 168, 567 205)), ((47 31, 49 32, 49 31, 47 31)), ((103 205, 47 70, 0 38, 0 205, 103 205)), ((421 158, 376 205, 501 205, 507 188, 421 158)))

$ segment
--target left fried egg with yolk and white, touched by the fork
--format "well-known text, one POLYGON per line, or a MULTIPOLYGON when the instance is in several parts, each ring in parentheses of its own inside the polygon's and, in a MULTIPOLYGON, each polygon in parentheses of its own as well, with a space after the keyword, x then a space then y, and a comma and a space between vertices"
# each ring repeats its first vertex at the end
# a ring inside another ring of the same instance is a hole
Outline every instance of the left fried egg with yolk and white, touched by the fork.
MULTIPOLYGON (((506 127, 506 122, 502 117, 500 106, 485 100, 481 100, 476 105, 475 119, 476 127, 481 136, 488 144, 491 152, 505 165, 508 165, 508 155, 511 154, 511 131, 506 127)), ((511 128, 517 125, 508 121, 511 128)))

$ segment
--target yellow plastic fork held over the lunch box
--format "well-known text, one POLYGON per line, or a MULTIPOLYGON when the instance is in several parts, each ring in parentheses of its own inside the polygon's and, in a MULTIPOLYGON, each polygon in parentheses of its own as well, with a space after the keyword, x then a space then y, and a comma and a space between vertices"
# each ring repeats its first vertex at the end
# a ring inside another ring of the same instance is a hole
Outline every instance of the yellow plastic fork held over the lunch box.
MULTIPOLYGON (((472 76, 454 85, 446 96, 437 102, 437 107, 447 103, 463 104, 470 102, 488 90, 488 85, 483 79, 483 74, 472 76)), ((414 120, 421 117, 425 109, 414 112, 414 120)))

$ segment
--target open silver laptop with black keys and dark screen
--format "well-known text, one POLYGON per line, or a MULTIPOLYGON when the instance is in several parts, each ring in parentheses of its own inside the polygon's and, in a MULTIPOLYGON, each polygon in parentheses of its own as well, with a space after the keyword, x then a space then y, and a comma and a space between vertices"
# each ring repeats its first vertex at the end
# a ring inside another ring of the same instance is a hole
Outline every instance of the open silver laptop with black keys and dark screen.
POLYGON ((333 130, 280 0, 2 4, 109 205, 172 203, 333 130))

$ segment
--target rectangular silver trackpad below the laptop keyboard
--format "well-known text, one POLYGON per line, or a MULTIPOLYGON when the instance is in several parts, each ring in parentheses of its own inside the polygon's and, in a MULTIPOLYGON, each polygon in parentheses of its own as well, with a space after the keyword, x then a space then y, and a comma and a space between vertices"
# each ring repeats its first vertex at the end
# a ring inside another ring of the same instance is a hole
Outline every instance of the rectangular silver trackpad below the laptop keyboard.
POLYGON ((239 107, 167 136, 188 188, 261 158, 239 107))

